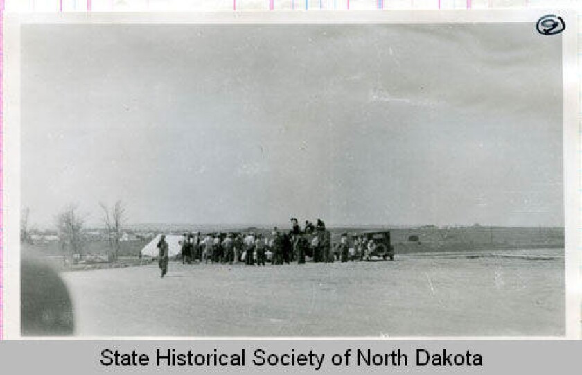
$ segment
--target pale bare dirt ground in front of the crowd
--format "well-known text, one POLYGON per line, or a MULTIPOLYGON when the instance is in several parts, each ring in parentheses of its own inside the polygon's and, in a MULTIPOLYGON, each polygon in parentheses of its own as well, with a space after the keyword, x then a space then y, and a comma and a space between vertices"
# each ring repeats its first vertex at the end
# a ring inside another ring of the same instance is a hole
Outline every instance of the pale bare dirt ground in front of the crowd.
POLYGON ((67 272, 89 336, 563 335, 563 250, 67 272))

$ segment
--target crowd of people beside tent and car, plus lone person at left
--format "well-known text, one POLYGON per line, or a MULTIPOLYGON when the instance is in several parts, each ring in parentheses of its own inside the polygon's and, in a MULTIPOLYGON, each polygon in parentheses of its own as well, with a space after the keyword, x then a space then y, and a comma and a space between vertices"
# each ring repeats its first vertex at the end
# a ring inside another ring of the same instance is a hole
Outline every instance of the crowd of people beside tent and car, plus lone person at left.
MULTIPOLYGON (((362 260, 374 250, 374 241, 364 236, 349 241, 348 234, 340 243, 332 245, 331 232, 321 219, 313 224, 306 221, 303 229, 297 218, 291 218, 292 229, 280 231, 277 227, 271 236, 250 231, 248 233, 184 233, 181 241, 182 263, 245 263, 246 265, 283 265, 297 261, 306 263, 308 256, 315 263, 333 263, 362 260)), ((165 236, 159 243, 159 265, 164 277, 168 270, 168 244, 165 236)))

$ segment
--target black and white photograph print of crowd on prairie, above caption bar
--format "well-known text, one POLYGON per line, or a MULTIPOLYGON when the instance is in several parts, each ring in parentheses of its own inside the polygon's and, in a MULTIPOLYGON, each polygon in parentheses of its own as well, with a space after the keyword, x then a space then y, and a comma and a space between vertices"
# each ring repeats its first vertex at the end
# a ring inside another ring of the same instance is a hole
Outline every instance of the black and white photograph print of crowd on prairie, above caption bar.
POLYGON ((255 17, 21 25, 21 335, 565 336, 563 35, 255 17))

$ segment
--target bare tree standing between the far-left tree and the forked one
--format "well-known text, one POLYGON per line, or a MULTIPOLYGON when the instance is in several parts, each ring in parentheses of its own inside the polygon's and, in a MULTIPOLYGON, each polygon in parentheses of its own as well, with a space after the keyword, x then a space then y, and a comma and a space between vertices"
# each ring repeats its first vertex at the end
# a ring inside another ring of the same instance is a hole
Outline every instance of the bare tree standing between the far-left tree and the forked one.
POLYGON ((75 254, 79 254, 79 257, 82 258, 82 231, 85 226, 85 218, 78 212, 78 207, 75 204, 69 204, 56 216, 55 221, 62 249, 65 252, 68 249, 73 259, 75 254))

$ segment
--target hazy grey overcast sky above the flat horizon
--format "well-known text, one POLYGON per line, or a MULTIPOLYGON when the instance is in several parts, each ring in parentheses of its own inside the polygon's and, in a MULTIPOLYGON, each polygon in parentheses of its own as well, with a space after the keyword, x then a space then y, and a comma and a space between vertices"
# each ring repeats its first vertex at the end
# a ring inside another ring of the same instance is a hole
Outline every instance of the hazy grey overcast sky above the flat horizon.
POLYGON ((513 26, 24 26, 21 198, 51 225, 563 225, 561 38, 513 26))

